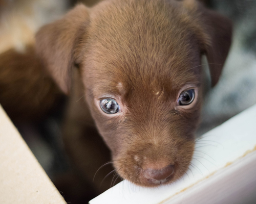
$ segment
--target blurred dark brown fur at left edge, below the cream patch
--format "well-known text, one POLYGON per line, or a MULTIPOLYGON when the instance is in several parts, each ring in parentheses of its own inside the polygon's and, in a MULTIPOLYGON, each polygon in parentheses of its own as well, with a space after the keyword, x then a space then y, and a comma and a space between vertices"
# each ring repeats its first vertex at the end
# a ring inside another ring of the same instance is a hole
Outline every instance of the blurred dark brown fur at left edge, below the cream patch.
POLYGON ((14 121, 41 119, 62 95, 34 49, 0 55, 0 103, 14 121))

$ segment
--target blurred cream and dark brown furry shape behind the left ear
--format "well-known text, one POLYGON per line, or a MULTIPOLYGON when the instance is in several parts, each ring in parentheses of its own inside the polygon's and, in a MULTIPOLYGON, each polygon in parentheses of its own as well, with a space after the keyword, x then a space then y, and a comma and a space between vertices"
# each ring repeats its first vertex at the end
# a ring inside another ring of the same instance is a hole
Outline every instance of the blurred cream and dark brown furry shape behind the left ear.
POLYGON ((61 95, 36 56, 34 35, 67 7, 66 0, 0 1, 0 103, 14 122, 41 119, 61 95))

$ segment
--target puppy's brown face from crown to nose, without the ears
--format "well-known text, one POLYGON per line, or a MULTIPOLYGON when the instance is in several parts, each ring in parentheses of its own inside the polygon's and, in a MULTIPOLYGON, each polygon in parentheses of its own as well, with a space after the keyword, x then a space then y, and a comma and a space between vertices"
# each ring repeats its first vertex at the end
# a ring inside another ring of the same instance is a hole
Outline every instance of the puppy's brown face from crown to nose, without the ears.
POLYGON ((127 6, 127 16, 144 12, 129 21, 113 8, 91 18, 80 66, 88 104, 117 172, 143 186, 170 182, 187 170, 201 105, 199 46, 178 13, 152 5, 127 6), (153 9, 159 19, 147 15, 153 9))

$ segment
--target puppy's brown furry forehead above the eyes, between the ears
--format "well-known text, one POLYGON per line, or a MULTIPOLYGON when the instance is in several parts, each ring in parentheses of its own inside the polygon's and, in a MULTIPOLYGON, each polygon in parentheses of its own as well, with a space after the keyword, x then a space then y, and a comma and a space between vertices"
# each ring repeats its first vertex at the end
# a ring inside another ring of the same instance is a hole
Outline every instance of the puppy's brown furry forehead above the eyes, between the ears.
POLYGON ((103 2, 91 12, 90 75, 113 90, 191 81, 184 73, 200 64, 200 52, 188 15, 177 1, 103 2))

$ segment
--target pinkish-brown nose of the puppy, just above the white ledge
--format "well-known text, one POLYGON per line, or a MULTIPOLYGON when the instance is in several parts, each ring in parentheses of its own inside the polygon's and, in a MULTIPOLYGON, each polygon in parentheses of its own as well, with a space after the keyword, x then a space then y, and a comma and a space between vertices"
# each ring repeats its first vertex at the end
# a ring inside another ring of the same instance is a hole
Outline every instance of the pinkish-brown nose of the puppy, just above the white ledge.
POLYGON ((170 180, 174 173, 174 165, 166 166, 162 169, 147 168, 143 171, 148 183, 163 184, 170 180))

